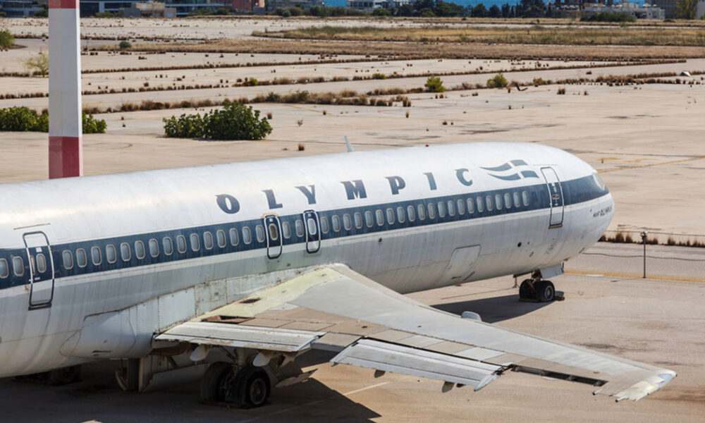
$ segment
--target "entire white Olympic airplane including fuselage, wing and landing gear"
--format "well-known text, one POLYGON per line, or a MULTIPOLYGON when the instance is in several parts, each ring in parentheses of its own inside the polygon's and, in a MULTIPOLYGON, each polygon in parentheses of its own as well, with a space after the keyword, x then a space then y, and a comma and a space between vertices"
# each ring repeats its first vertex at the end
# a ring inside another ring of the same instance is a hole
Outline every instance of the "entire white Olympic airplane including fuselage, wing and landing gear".
MULTIPOLYGON (((297 358, 477 391, 508 371, 638 400, 675 372, 459 317, 405 293, 550 278, 596 242, 613 198, 560 149, 465 143, 0 185, 0 377, 123 389, 201 381, 259 407, 297 358), (523 277, 523 276, 522 276, 523 277)), ((508 378, 503 378, 508 379, 508 378)))

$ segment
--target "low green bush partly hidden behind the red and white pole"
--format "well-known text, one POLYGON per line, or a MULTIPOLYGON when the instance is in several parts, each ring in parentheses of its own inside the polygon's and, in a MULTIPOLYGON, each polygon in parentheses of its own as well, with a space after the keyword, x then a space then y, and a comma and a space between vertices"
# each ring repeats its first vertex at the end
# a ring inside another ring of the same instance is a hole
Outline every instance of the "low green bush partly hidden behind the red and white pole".
MULTIPOLYGON (((92 114, 83 112, 82 127, 85 134, 105 133, 107 124, 103 119, 97 120, 92 114)), ((29 107, 10 107, 0 109, 0 130, 11 132, 49 132, 49 114, 38 114, 29 107)))

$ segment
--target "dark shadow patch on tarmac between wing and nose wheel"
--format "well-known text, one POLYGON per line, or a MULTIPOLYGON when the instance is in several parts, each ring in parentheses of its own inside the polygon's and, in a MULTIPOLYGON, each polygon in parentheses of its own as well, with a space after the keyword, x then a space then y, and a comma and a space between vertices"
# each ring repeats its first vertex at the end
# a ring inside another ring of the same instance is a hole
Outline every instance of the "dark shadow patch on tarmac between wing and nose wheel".
MULTIPOLYGON (((556 292, 558 294, 558 292, 556 292)), ((550 302, 520 302, 516 294, 504 295, 502 297, 482 298, 479 300, 446 302, 435 304, 432 307, 453 314, 462 312, 476 312, 486 323, 495 323, 523 316, 537 309, 550 305, 550 302)))

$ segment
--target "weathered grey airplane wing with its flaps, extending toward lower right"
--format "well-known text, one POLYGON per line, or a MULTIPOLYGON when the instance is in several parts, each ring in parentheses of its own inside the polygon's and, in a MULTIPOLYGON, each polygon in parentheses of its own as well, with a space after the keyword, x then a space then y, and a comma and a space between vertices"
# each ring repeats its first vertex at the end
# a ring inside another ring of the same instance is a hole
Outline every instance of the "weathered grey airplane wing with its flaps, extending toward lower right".
POLYGON ((596 386, 617 401, 658 391, 675 372, 504 329, 389 290, 341 264, 321 266, 214 309, 158 340, 255 348, 295 355, 338 353, 333 364, 438 379, 443 391, 477 391, 504 372, 528 372, 596 386))

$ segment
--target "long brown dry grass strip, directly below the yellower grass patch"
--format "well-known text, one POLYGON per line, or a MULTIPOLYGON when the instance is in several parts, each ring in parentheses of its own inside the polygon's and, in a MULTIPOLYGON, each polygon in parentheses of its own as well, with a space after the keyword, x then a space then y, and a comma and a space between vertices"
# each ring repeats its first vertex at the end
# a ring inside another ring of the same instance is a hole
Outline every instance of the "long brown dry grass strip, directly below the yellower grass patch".
POLYGON ((668 46, 564 46, 531 44, 421 43, 421 42, 318 42, 290 39, 228 39, 193 43, 141 43, 140 51, 200 51, 271 54, 360 54, 375 59, 525 59, 621 60, 705 57, 705 47, 668 46))

